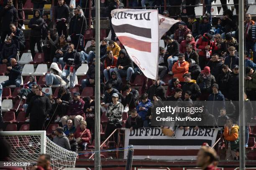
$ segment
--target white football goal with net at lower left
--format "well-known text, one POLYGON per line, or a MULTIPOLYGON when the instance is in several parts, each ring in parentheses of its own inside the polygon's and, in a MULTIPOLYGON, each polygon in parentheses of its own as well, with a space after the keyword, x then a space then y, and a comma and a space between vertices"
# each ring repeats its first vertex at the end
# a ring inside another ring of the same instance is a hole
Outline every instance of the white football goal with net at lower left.
POLYGON ((43 153, 51 156, 53 170, 75 167, 77 153, 53 143, 46 137, 46 131, 1 132, 0 139, 8 141, 12 147, 8 160, 14 163, 27 163, 23 164, 29 165, 26 169, 31 169, 43 153))

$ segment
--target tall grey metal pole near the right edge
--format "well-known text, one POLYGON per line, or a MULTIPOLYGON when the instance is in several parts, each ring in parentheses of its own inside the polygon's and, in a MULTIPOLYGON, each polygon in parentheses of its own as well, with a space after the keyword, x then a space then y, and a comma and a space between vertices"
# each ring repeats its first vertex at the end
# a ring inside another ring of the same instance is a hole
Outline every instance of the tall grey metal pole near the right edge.
POLYGON ((239 168, 245 169, 245 110, 244 110, 244 28, 243 0, 239 0, 239 168))

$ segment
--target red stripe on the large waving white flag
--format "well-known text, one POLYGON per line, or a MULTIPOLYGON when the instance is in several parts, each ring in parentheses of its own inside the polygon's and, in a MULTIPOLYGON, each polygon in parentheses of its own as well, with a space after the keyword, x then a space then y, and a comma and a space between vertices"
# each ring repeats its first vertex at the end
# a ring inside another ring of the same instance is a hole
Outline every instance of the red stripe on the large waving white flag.
POLYGON ((139 51, 151 52, 151 42, 141 41, 127 36, 118 36, 118 39, 127 47, 139 51))

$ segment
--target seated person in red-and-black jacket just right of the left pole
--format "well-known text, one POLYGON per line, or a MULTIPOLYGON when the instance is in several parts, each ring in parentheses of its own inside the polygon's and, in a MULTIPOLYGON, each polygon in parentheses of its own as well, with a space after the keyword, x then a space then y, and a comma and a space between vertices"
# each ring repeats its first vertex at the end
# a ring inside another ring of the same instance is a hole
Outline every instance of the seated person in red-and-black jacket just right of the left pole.
POLYGON ((108 81, 110 79, 109 75, 111 75, 111 72, 113 72, 114 68, 116 67, 117 60, 118 60, 117 57, 113 56, 112 51, 108 51, 107 54, 108 54, 108 57, 106 57, 106 59, 104 61, 105 70, 103 71, 106 81, 108 81))

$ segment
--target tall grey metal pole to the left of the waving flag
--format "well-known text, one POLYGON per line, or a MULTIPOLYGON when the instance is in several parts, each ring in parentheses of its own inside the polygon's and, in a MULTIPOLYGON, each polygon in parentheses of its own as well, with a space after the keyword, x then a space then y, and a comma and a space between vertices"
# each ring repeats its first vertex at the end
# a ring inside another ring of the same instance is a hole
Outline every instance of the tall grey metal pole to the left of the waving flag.
POLYGON ((100 162, 100 0, 96 0, 96 69, 95 69, 95 170, 101 169, 100 162))

